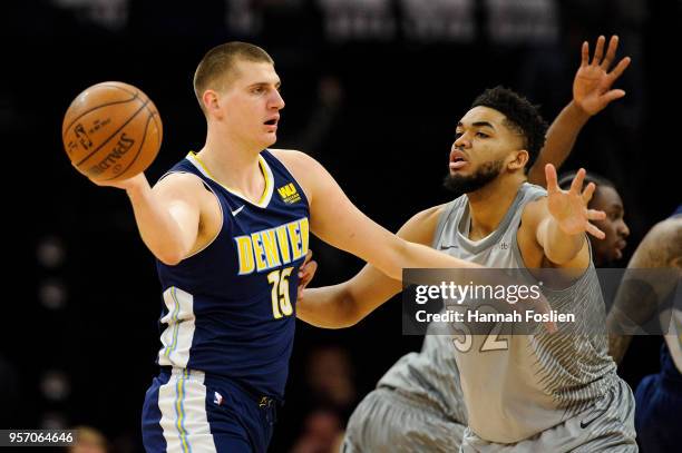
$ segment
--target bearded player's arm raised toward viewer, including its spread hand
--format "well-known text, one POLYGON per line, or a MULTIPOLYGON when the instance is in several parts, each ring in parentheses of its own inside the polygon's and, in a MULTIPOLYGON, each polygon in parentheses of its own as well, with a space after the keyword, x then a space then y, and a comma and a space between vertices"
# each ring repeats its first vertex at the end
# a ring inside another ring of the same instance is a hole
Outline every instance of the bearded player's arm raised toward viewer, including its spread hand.
POLYGON ((590 249, 585 233, 603 238, 604 233, 591 220, 603 219, 605 213, 587 208, 594 184, 581 191, 585 170, 576 175, 571 190, 562 190, 556 169, 548 164, 547 197, 529 203, 518 233, 519 247, 528 267, 585 269, 590 265, 590 249))

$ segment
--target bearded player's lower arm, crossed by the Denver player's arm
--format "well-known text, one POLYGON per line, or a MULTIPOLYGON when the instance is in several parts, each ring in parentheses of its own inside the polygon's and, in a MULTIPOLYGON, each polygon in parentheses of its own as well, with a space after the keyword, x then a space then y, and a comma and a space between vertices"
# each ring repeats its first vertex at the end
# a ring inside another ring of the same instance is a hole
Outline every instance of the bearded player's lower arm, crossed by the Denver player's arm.
MULTIPOLYGON (((428 246, 445 205, 418 213, 397 233, 398 237, 428 246)), ((296 316, 318 327, 349 327, 402 290, 399 280, 366 265, 353 278, 339 285, 305 289, 296 302, 296 316)))

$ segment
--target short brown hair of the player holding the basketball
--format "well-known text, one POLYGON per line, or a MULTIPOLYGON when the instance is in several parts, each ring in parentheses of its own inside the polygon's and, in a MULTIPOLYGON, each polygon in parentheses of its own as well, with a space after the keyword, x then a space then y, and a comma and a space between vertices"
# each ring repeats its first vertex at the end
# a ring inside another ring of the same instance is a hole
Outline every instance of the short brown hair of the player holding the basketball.
POLYGON ((224 88, 235 72, 235 62, 240 60, 274 65, 265 50, 249 42, 225 42, 208 50, 194 72, 194 93, 202 110, 204 91, 208 88, 224 88))

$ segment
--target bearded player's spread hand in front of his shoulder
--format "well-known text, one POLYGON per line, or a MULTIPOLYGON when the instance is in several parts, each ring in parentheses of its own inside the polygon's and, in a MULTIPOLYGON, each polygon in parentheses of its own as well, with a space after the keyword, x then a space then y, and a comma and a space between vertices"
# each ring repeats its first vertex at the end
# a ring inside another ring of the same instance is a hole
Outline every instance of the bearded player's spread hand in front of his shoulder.
POLYGON ((597 239, 603 239, 606 235, 591 224, 591 220, 603 220, 606 218, 606 213, 587 208, 596 186, 594 183, 590 183, 585 190, 581 193, 585 174, 585 169, 581 168, 571 184, 571 189, 562 190, 556 180, 556 168, 552 164, 547 164, 545 166, 547 208, 565 234, 577 235, 587 232, 597 239))

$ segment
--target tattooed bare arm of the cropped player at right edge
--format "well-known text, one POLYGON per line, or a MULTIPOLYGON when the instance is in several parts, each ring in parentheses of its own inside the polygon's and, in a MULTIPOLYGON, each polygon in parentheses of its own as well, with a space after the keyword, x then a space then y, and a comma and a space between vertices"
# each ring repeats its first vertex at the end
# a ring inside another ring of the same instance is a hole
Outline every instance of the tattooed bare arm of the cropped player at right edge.
MULTIPOLYGON (((674 268, 682 277, 682 219, 672 218, 656 224, 642 239, 634 255, 627 264, 629 269, 644 268, 674 268)), ((653 277, 653 274, 637 274, 653 277)), ((627 276, 626 276, 627 277, 627 276)), ((632 336, 617 335, 618 326, 623 323, 639 323, 650 319, 657 309, 657 302, 673 289, 676 279, 650 278, 646 282, 623 282, 614 305, 606 317, 608 326, 608 353, 616 363, 621 363, 630 346, 632 336), (640 319, 623 318, 629 317, 640 319)))

